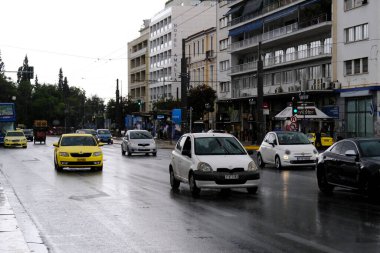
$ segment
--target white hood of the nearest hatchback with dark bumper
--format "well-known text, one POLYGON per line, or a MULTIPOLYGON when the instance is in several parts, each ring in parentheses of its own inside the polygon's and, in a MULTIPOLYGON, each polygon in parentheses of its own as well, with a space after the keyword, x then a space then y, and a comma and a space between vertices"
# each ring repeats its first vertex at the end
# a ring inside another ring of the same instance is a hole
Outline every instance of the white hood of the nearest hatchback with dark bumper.
POLYGON ((208 163, 213 170, 217 168, 248 168, 248 164, 252 162, 252 158, 248 155, 202 155, 197 156, 199 162, 208 163))

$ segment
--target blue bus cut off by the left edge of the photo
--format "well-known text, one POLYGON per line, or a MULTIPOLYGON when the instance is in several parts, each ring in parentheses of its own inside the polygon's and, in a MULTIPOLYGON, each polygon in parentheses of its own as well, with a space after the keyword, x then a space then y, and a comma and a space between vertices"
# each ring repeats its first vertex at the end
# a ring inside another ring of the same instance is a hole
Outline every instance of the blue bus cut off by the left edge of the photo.
POLYGON ((16 111, 14 103, 0 103, 0 144, 4 144, 7 131, 15 129, 16 111))

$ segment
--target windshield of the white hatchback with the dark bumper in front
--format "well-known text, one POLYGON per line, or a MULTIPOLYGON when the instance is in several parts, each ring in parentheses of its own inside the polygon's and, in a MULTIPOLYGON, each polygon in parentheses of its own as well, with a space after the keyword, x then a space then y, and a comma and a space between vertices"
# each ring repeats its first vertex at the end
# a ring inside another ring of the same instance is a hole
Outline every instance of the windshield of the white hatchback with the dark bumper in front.
POLYGON ((233 137, 195 138, 196 155, 246 155, 245 149, 233 137))

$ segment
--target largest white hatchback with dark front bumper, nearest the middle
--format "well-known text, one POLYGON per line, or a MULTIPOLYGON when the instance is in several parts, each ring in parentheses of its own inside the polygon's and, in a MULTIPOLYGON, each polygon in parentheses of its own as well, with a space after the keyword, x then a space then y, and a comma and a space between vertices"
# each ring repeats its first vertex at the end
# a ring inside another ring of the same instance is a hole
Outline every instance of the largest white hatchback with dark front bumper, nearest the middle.
POLYGON ((178 140, 169 165, 170 185, 188 183, 196 196, 201 188, 246 188, 256 193, 260 173, 243 145, 230 134, 190 133, 178 140))

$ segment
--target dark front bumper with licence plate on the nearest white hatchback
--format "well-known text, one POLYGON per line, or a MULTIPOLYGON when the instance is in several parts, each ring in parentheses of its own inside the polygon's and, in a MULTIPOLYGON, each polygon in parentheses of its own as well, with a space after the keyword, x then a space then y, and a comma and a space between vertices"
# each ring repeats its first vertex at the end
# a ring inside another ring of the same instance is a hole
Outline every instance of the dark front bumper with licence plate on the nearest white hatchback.
POLYGON ((194 179, 199 188, 248 188, 260 183, 259 172, 201 172, 194 171, 194 179))

